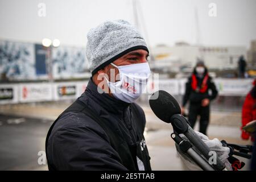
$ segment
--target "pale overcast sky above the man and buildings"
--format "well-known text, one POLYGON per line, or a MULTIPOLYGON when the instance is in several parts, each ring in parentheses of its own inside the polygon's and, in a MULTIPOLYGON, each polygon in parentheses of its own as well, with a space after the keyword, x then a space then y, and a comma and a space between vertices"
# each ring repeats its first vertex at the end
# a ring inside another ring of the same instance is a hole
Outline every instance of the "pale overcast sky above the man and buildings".
MULTIPOLYGON (((195 44, 195 9, 205 46, 248 48, 256 39, 255 0, 138 1, 141 31, 151 46, 195 44), (216 17, 208 15, 211 2, 217 5, 216 17)), ((40 43, 43 38, 57 38, 63 45, 85 46, 89 29, 104 20, 126 19, 134 24, 132 5, 132 0, 0 0, 0 39, 40 43), (39 3, 46 5, 45 17, 38 16, 39 3)))

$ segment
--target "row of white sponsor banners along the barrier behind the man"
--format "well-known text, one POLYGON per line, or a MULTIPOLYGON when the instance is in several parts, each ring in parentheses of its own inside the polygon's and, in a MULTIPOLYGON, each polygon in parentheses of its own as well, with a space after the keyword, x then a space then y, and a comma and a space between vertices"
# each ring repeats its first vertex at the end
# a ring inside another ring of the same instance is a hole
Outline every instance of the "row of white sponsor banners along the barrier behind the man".
MULTIPOLYGON (((230 79, 215 78, 219 96, 246 96, 253 87, 254 79, 230 79)), ((149 81, 149 92, 165 90, 172 95, 183 95, 185 92, 186 78, 160 79, 149 81)), ((13 104, 18 102, 56 101, 80 97, 84 93, 88 81, 55 82, 55 83, 24 83, 24 84, 1 84, 0 104, 13 104)), ((142 96, 141 100, 148 97, 142 96)))

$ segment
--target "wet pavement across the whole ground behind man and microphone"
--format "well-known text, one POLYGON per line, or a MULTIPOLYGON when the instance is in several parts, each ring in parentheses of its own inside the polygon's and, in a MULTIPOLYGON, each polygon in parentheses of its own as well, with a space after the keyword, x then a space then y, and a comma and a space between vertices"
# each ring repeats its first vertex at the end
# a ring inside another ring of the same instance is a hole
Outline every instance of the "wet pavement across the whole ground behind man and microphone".
MULTIPOLYGON (((39 164, 38 155, 44 151, 47 131, 53 120, 71 102, 58 104, 19 104, 0 106, 0 170, 47 170, 39 164)), ((184 170, 176 154, 174 141, 170 138, 172 127, 155 117, 144 105, 146 114, 146 143, 153 170, 184 170)), ((213 111, 208 129, 210 139, 225 139, 229 143, 250 144, 240 139, 239 112, 213 111)), ((196 125, 198 129, 198 124, 196 125)), ((244 169, 249 169, 249 162, 244 169)))

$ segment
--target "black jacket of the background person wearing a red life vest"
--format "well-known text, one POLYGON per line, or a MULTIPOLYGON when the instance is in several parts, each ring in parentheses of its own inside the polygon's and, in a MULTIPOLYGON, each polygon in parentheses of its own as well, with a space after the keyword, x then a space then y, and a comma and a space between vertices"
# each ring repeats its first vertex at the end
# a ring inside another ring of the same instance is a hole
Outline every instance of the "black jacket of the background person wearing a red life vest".
MULTIPOLYGON (((208 73, 207 69, 205 68, 205 73, 208 73)), ((197 76, 197 73, 194 69, 193 73, 196 75, 197 78, 197 85, 201 86, 202 82, 203 82, 203 77, 200 78, 197 76)), ((214 98, 217 97, 218 95, 218 91, 216 89, 216 86, 212 80, 212 77, 209 76, 208 81, 207 81, 207 91, 205 93, 200 93, 200 92, 196 92, 195 90, 192 89, 191 86, 192 83, 192 76, 190 76, 188 78, 188 82, 185 85, 185 94, 183 96, 183 106, 185 106, 187 104, 187 102, 189 101, 190 104, 201 104, 201 101, 204 100, 204 98, 209 98, 210 101, 214 100, 214 98), (209 90, 210 90, 210 94, 209 94, 209 90)))

